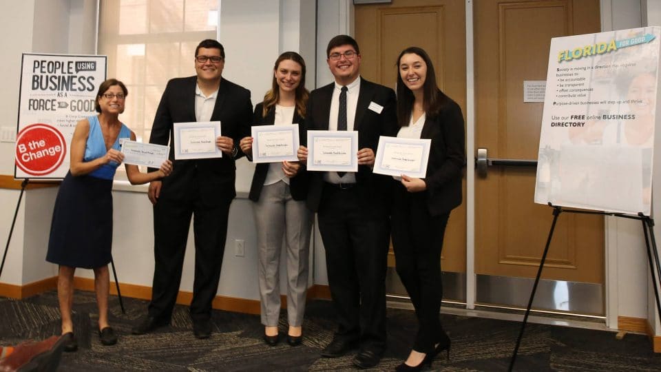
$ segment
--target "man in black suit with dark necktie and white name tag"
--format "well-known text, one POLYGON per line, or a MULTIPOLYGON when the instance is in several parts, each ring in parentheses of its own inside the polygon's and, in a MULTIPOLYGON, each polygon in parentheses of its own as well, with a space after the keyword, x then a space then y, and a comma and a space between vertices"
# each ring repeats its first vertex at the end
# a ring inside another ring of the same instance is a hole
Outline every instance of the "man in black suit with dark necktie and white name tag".
MULTIPOLYGON (((379 136, 397 131, 395 92, 361 79, 360 51, 352 37, 331 39, 326 55, 335 82, 311 92, 306 130, 356 130, 359 151, 358 172, 312 172, 308 189, 337 312, 337 331, 322 355, 333 358, 359 347, 353 364, 367 368, 378 364, 386 349, 388 180, 373 174, 372 166, 379 136)), ((302 162, 307 151, 299 150, 302 162)))

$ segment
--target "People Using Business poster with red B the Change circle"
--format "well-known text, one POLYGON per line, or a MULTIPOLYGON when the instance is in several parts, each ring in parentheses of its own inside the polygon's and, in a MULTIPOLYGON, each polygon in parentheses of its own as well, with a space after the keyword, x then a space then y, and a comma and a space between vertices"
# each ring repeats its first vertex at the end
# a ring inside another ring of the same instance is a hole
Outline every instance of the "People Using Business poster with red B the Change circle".
POLYGON ((106 60, 23 53, 14 178, 64 178, 76 123, 96 114, 106 60))

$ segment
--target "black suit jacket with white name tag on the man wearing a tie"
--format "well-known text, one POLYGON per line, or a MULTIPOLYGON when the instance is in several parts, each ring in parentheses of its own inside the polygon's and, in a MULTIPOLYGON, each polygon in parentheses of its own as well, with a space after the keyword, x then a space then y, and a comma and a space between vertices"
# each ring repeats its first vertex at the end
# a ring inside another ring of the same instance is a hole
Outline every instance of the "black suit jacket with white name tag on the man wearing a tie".
MULTIPOLYGON (((334 89, 335 83, 330 83, 311 92, 306 113, 306 130, 328 130, 330 100, 333 98, 334 89)), ((397 133, 395 91, 361 78, 353 130, 358 131, 358 149, 369 147, 376 154, 379 136, 390 136, 397 133), (368 109, 371 102, 381 105, 383 110, 377 113, 368 109)), ((307 203, 309 209, 317 211, 324 187, 324 172, 310 173, 307 203)), ((356 184, 362 200, 369 206, 366 213, 386 213, 388 209, 388 203, 386 203, 388 179, 386 176, 374 174, 368 165, 359 165, 356 184)))

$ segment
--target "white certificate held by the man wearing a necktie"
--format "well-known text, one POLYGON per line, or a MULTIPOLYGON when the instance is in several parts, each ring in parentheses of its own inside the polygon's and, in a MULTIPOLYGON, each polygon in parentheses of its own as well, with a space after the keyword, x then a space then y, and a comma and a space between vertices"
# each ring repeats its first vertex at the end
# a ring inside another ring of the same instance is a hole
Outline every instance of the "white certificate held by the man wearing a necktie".
POLYGON ((358 132, 308 130, 308 170, 358 172, 358 132))

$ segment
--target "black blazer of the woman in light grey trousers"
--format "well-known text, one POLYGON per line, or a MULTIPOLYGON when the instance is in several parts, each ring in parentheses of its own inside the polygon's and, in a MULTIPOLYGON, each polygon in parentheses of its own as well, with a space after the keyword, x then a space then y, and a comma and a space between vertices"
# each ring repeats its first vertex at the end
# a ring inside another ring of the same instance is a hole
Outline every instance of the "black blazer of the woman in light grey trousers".
MULTIPOLYGON (((275 106, 271 107, 271 109, 266 112, 266 116, 262 116, 263 107, 263 102, 258 103, 257 107, 255 107, 253 125, 273 125, 275 122, 275 106)), ((291 123, 298 124, 299 138, 303 138, 305 136, 305 126, 303 119, 296 110, 294 110, 294 117, 292 118, 291 123)), ((262 193, 262 187, 264 187, 264 180, 266 180, 266 174, 268 172, 269 163, 260 163, 255 166, 253 183, 250 185, 250 193, 248 194, 250 200, 255 202, 260 200, 260 194, 262 193)), ((289 191, 294 200, 305 200, 308 194, 308 172, 301 169, 296 176, 289 178, 289 191)))

